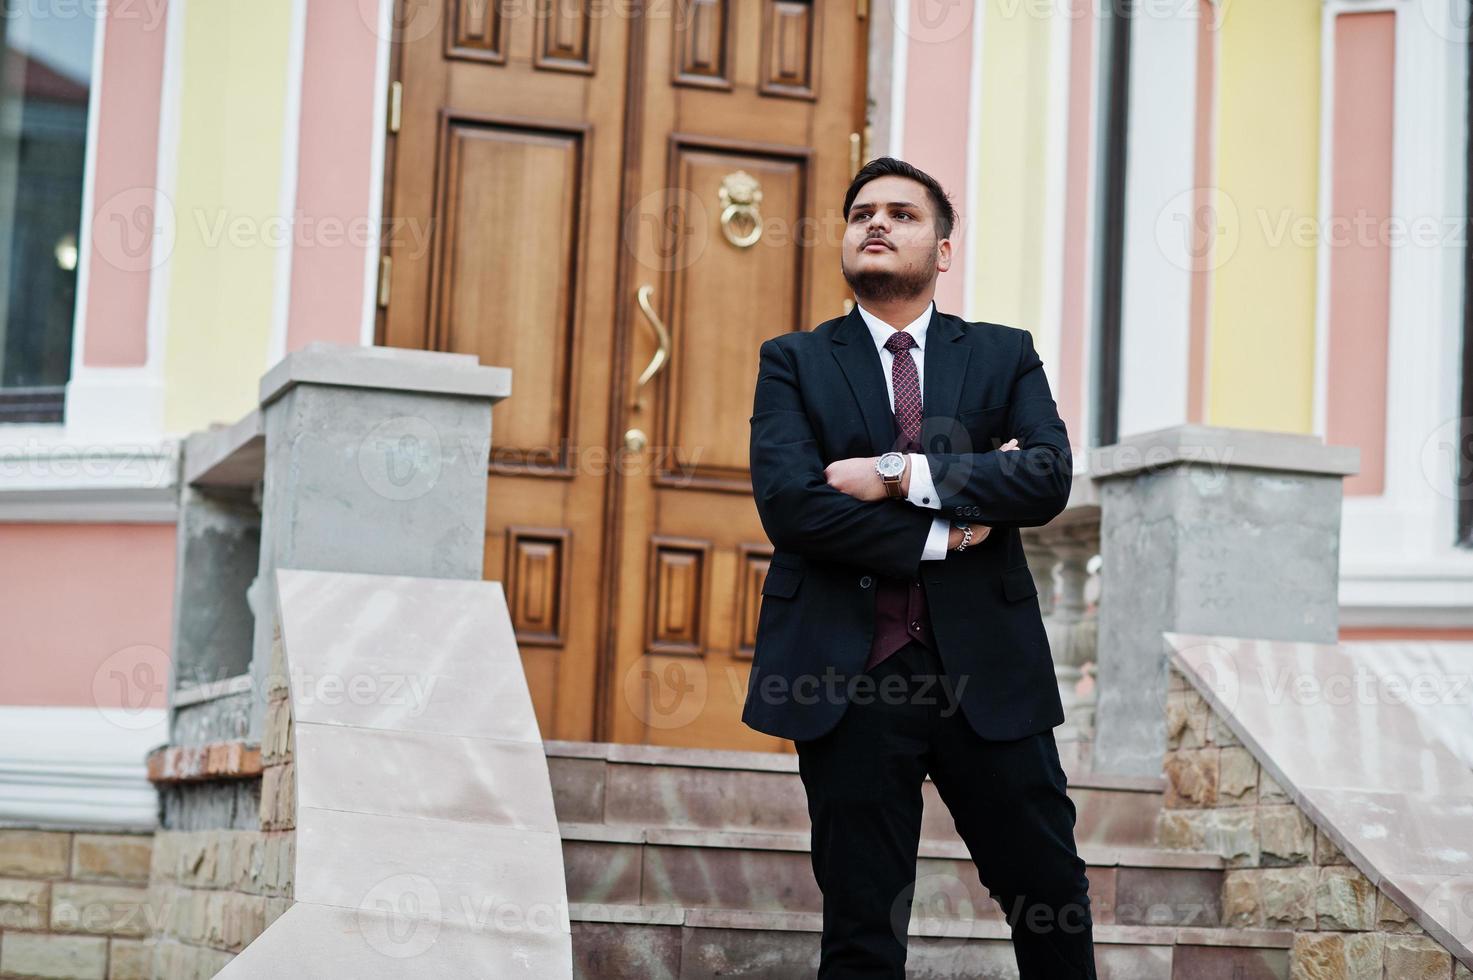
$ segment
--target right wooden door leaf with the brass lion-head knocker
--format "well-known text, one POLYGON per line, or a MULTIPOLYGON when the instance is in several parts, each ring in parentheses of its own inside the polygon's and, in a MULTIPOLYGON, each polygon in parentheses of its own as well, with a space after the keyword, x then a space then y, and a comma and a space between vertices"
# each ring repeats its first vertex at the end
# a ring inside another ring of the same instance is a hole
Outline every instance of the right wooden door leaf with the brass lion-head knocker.
MULTIPOLYGON (((650 289, 670 358, 625 405, 650 448, 620 483, 613 735, 791 750, 741 724, 770 554, 748 417, 762 340, 844 312, 865 21, 851 0, 713 0, 673 29, 639 27, 644 164, 625 290, 650 289)), ((630 342, 632 386, 654 332, 630 342)))

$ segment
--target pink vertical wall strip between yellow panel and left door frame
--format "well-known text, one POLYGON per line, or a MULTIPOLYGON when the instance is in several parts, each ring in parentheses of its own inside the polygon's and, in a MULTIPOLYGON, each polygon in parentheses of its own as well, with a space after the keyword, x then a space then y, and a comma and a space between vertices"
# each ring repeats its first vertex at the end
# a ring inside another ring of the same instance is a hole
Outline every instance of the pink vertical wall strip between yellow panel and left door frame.
POLYGON ((373 139, 384 106, 374 90, 374 0, 309 0, 302 63, 296 218, 287 351, 311 340, 358 343, 368 252, 373 139), (333 230, 340 231, 333 234, 333 230))

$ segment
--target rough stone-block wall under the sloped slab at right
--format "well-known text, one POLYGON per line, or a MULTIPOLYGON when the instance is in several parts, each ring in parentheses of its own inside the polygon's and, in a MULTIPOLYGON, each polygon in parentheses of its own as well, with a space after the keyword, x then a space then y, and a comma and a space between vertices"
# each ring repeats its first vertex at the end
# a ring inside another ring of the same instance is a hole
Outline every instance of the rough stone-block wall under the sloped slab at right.
POLYGON ((1220 855, 1223 925, 1293 931, 1292 980, 1473 980, 1295 805, 1170 668, 1162 847, 1220 855))

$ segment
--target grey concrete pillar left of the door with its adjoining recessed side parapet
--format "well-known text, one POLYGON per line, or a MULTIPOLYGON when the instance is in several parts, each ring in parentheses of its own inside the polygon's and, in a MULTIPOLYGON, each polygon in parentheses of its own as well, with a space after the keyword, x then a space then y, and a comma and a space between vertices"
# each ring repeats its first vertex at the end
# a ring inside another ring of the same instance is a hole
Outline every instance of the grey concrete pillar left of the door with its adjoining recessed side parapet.
POLYGON ((311 343, 183 454, 171 741, 259 741, 275 569, 482 578, 491 407, 474 355, 311 343), (247 588, 249 584, 249 588, 247 588))

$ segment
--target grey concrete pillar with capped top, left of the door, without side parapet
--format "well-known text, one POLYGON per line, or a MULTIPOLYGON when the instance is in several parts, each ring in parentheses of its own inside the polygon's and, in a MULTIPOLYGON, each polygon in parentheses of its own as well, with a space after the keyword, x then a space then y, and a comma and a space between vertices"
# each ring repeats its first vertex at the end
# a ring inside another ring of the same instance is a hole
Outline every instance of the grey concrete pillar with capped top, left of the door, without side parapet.
POLYGON ((491 407, 510 392, 508 368, 470 354, 327 343, 261 379, 252 741, 265 724, 277 567, 482 578, 491 407))

